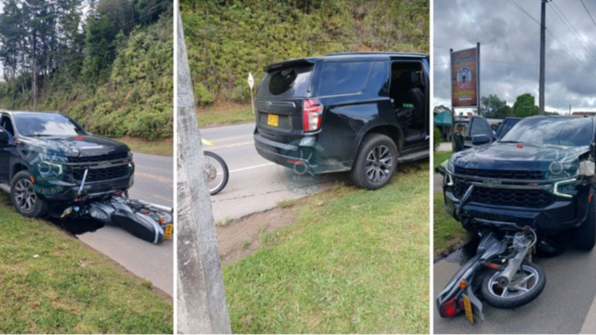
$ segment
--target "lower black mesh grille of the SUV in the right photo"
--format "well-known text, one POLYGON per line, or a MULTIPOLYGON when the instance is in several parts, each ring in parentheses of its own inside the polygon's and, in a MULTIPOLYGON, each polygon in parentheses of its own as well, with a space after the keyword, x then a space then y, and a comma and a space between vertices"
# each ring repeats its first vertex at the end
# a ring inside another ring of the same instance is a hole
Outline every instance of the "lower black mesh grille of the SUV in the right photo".
MULTIPOLYGON (((469 186, 461 179, 454 179, 454 195, 461 199, 469 186)), ((552 204, 554 196, 544 190, 474 187, 468 201, 499 206, 540 208, 552 204)))

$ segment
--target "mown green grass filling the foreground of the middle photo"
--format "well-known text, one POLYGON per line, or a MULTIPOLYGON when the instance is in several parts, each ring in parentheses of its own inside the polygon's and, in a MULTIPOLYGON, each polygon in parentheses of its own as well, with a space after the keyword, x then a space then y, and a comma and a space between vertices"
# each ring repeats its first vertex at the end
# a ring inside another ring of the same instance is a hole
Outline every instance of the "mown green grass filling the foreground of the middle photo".
POLYGON ((429 333, 429 166, 303 198, 225 266, 234 333, 429 333))

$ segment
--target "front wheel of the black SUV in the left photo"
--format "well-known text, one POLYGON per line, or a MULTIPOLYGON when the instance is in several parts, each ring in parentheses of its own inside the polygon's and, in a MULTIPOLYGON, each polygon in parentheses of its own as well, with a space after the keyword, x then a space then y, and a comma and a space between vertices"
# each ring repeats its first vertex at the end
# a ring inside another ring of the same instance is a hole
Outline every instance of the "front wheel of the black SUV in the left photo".
POLYGON ((29 171, 18 172, 10 184, 10 200, 20 215, 41 218, 48 212, 48 203, 33 192, 32 186, 29 171))

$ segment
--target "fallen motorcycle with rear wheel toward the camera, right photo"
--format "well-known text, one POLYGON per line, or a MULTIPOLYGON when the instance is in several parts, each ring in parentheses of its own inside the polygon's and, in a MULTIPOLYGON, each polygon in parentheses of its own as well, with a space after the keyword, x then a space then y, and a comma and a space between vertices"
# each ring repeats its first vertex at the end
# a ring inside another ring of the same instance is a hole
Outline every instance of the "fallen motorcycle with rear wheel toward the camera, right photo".
POLYGON ((465 312, 471 324, 484 320, 479 297, 495 308, 512 309, 532 302, 547 283, 533 262, 538 236, 530 227, 483 222, 476 256, 451 278, 436 299, 443 318, 465 312))

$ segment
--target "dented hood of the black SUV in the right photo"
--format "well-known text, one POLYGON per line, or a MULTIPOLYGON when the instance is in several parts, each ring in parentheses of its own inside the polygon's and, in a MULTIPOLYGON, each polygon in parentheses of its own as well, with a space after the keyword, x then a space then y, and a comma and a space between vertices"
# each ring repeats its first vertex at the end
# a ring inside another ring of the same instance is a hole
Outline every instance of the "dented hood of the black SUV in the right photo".
POLYGON ((533 145, 495 142, 487 147, 471 148, 454 155, 452 163, 461 168, 491 170, 549 170, 552 162, 565 169, 577 168, 579 156, 589 146, 533 145))

